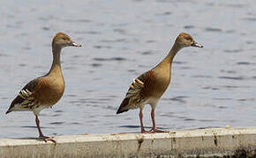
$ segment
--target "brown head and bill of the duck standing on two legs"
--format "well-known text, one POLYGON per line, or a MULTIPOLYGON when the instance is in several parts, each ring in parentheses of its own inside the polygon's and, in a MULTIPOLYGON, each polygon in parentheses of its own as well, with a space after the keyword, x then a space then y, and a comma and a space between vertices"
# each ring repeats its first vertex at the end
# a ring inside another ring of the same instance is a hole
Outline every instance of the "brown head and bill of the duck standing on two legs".
POLYGON ((176 43, 180 47, 203 47, 198 44, 190 34, 182 32, 177 36, 176 43))

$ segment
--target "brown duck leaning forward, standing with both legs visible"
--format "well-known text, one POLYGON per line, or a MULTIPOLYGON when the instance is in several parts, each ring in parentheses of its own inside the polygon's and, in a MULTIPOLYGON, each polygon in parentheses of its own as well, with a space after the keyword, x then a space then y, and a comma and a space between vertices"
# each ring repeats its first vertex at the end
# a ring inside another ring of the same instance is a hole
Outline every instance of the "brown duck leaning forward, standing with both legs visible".
POLYGON ((117 109, 117 114, 139 109, 139 123, 141 133, 164 133, 156 128, 154 110, 162 94, 167 90, 171 78, 171 66, 175 55, 184 47, 203 47, 197 43, 192 35, 181 32, 171 47, 169 54, 154 68, 139 75, 133 80, 129 90, 117 109), (152 129, 146 131, 143 126, 143 109, 146 104, 151 105, 152 129))

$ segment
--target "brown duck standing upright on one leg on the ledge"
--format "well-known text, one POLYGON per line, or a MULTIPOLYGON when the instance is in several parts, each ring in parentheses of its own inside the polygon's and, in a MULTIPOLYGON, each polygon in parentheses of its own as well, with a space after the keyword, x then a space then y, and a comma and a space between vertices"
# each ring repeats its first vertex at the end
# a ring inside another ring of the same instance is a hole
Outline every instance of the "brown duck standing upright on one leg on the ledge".
POLYGON ((60 63, 62 48, 81 47, 81 45, 72 41, 64 32, 58 32, 52 39, 51 46, 53 61, 49 72, 27 83, 25 87, 19 91, 17 97, 12 100, 6 114, 11 111, 33 111, 39 139, 45 142, 50 140, 56 143, 53 137, 44 136, 42 134, 38 115, 41 110, 56 104, 64 94, 64 76, 60 63))

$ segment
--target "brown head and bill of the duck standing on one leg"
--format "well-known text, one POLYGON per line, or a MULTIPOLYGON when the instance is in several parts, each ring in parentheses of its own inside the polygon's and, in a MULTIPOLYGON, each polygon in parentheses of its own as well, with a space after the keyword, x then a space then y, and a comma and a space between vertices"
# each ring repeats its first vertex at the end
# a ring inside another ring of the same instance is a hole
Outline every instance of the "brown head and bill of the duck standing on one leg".
POLYGON ((52 39, 52 47, 81 47, 81 45, 72 41, 72 39, 63 32, 56 33, 55 37, 52 39))

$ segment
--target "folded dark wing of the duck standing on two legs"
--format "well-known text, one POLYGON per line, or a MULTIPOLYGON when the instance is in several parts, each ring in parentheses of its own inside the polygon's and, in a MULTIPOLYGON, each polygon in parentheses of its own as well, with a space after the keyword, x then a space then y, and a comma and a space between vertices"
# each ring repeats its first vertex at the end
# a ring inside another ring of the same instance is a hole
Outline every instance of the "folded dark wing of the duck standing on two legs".
POLYGON ((154 83, 155 73, 153 69, 139 75, 130 85, 123 102, 117 110, 117 114, 133 109, 136 105, 146 101, 154 83))

